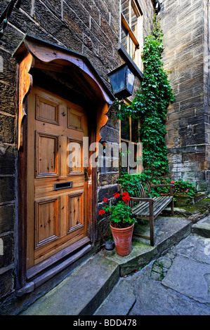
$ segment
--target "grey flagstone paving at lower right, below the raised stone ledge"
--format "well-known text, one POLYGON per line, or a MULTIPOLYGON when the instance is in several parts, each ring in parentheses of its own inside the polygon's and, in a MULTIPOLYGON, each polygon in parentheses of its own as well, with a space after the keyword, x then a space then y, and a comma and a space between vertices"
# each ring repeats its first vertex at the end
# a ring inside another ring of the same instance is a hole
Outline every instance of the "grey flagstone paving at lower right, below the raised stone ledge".
POLYGON ((123 307, 124 315, 210 315, 210 246, 205 249, 206 242, 205 237, 191 234, 143 269, 126 275, 97 315, 105 315, 106 309, 117 315, 114 301, 119 303, 122 289, 133 289, 136 296, 132 308, 131 303, 123 307))

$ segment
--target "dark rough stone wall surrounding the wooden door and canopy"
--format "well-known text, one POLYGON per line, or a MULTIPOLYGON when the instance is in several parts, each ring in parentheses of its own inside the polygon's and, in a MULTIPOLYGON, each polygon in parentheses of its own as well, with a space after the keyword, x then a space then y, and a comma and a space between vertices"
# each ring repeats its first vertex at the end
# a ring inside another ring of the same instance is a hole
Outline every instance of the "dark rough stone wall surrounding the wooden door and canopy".
MULTIPOLYGON (((150 33, 154 7, 152 1, 140 0, 145 37, 150 33)), ((0 13, 9 1, 2 0, 0 13)), ((25 34, 51 41, 86 55, 108 88, 109 72, 124 60, 119 55, 119 1, 112 0, 28 0, 13 8, 0 41, 0 297, 15 294, 18 246, 18 63, 12 57, 25 34), (48 33, 49 32, 49 33, 48 33), (1 68, 0 68, 1 69, 1 68)), ((138 88, 140 81, 136 79, 138 88)), ((135 89, 136 90, 136 89, 135 89)), ((119 143, 119 121, 108 114, 101 136, 119 143)), ((98 200, 110 197, 117 189, 118 169, 106 175, 98 173, 98 200)), ((98 223, 98 238, 107 228, 98 223)))

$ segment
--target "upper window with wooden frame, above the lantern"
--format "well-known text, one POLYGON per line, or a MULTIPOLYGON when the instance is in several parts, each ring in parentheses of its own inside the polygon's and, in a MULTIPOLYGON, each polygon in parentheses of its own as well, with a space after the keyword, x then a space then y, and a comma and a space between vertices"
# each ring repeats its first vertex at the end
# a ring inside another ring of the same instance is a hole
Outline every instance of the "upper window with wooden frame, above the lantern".
POLYGON ((121 44, 142 70, 143 15, 138 0, 121 0, 121 44))

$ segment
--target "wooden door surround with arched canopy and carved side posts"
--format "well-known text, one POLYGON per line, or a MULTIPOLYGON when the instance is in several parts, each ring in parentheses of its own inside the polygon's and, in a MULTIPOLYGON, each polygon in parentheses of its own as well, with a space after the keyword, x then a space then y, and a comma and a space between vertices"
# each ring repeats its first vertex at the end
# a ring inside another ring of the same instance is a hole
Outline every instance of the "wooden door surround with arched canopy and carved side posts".
MULTIPOLYGON (((19 102, 18 102, 18 263, 17 263, 17 289, 21 289, 27 282, 27 185, 25 184, 27 171, 27 95, 32 88, 32 67, 56 67, 56 59, 71 62, 79 74, 83 74, 86 84, 92 86, 96 100, 96 121, 88 120, 89 144, 100 141, 100 128, 107 123, 107 112, 114 102, 114 96, 107 89, 96 70, 84 55, 79 55, 66 48, 48 44, 44 41, 25 37, 13 56, 20 63, 19 66, 19 102), (36 41, 36 42, 35 42, 36 41), (43 59, 47 50, 49 58, 43 59), (39 53, 40 51, 40 53, 39 53), (55 53, 56 51, 56 53, 55 53), (52 62, 52 58, 55 60, 52 62), (50 62, 50 64, 49 64, 50 62), (78 65, 78 67, 77 67, 78 65)), ((53 70, 51 68, 51 70, 53 70)), ((88 237, 91 242, 97 238, 97 167, 88 168, 91 183, 88 183, 88 237)))

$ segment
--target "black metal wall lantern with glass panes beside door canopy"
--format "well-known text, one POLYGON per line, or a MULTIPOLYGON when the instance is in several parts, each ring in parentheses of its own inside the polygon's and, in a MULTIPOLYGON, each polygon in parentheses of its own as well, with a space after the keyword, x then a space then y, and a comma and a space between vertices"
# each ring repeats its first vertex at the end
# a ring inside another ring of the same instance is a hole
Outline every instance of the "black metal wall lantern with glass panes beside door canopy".
POLYGON ((135 76, 126 63, 110 72, 108 76, 112 85, 112 93, 116 98, 122 100, 122 98, 132 95, 135 76))

